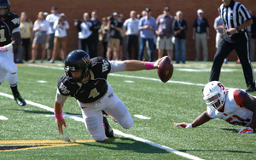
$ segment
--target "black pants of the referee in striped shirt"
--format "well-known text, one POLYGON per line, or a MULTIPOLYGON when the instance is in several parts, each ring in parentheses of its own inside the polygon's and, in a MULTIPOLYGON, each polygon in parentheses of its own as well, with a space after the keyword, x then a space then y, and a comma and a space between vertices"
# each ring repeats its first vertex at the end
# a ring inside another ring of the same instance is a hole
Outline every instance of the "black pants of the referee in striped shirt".
POLYGON ((255 88, 253 66, 249 60, 248 40, 246 32, 236 33, 232 37, 229 37, 227 34, 224 35, 223 41, 219 44, 214 55, 210 81, 218 81, 224 59, 235 49, 241 62, 247 88, 255 88))

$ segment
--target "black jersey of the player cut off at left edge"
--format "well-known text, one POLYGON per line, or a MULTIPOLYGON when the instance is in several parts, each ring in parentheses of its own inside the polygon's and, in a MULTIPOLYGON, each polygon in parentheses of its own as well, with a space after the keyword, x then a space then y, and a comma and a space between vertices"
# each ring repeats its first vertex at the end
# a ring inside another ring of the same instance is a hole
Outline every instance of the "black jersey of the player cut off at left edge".
POLYGON ((10 13, 5 20, 0 20, 0 46, 12 42, 12 32, 20 26, 20 18, 17 14, 10 13))

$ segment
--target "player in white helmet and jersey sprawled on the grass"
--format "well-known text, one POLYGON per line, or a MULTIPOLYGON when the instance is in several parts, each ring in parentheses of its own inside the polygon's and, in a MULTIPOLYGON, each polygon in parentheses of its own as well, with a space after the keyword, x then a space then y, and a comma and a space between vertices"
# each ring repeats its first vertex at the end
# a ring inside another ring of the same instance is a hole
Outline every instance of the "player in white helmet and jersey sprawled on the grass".
POLYGON ((207 111, 196 117, 192 123, 174 123, 183 128, 195 128, 211 119, 223 119, 233 124, 247 127, 238 133, 253 133, 256 128, 256 98, 241 89, 226 90, 222 83, 212 81, 204 88, 207 111))

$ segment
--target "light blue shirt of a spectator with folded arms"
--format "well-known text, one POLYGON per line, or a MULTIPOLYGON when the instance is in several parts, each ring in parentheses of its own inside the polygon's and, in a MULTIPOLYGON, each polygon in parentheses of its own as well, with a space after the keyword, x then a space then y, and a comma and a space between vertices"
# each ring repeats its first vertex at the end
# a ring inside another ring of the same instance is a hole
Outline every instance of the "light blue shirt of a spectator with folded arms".
POLYGON ((154 30, 156 30, 156 24, 155 24, 155 19, 153 17, 144 16, 143 18, 140 19, 139 22, 139 30, 140 30, 140 37, 142 38, 154 38, 154 30, 144 30, 142 29, 143 26, 152 26, 154 30))

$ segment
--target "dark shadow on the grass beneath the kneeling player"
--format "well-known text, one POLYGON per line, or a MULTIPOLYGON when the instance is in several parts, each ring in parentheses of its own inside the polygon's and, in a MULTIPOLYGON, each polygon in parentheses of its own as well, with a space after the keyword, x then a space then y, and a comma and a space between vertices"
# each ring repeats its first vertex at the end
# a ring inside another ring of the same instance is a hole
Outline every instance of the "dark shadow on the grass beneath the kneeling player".
POLYGON ((96 143, 79 143, 84 146, 96 146, 103 147, 113 151, 135 151, 138 153, 170 153, 169 151, 165 151, 163 149, 150 146, 140 141, 132 140, 129 138, 119 138, 114 137, 114 139, 120 140, 108 140, 103 142, 96 143), (129 142, 125 142, 124 140, 128 140, 129 142))

